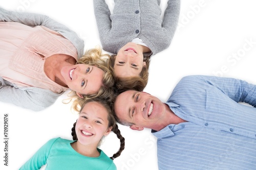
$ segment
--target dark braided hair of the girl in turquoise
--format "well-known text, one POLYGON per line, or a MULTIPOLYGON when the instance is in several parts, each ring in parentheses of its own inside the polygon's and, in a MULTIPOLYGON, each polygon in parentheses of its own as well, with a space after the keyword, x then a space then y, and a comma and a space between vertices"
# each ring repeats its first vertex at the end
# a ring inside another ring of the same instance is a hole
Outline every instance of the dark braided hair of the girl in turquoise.
MULTIPOLYGON (((115 153, 112 157, 110 157, 110 159, 115 159, 117 157, 119 157, 122 153, 122 151, 124 150, 124 137, 121 135, 121 132, 120 130, 118 129, 118 126, 116 124, 116 120, 115 120, 115 117, 114 117, 114 114, 112 112, 113 110, 113 102, 112 102, 112 99, 99 99, 99 98, 94 98, 94 99, 90 99, 90 100, 87 100, 85 101, 82 105, 81 105, 81 109, 80 111, 82 110, 82 108, 84 107, 84 105, 86 105, 87 103, 89 102, 98 102, 100 103, 101 105, 103 105, 106 110, 108 111, 109 113, 109 116, 108 116, 108 120, 109 120, 109 126, 108 127, 112 127, 112 130, 116 135, 117 135, 117 138, 120 140, 120 148, 119 148, 119 151, 117 153, 115 153)), ((73 128, 71 129, 71 135, 73 136, 73 140, 78 140, 77 138, 77 135, 76 135, 76 131, 75 131, 75 127, 76 127, 76 122, 73 124, 73 128)))

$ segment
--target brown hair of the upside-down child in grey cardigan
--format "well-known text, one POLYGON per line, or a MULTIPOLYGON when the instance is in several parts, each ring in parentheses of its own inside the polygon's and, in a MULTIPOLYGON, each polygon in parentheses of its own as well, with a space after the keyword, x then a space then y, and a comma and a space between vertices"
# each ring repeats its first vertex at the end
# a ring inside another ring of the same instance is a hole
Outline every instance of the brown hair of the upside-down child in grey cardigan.
MULTIPOLYGON (((114 70, 115 60, 116 60, 116 54, 112 55, 108 60, 108 67, 113 72, 114 76, 115 76, 115 70, 114 70)), ((148 81, 148 68, 150 66, 150 58, 144 57, 143 60, 146 62, 146 66, 142 67, 142 70, 139 76, 122 77, 122 78, 115 76, 115 79, 116 79, 115 88, 118 92, 126 91, 129 89, 143 91, 148 81)))

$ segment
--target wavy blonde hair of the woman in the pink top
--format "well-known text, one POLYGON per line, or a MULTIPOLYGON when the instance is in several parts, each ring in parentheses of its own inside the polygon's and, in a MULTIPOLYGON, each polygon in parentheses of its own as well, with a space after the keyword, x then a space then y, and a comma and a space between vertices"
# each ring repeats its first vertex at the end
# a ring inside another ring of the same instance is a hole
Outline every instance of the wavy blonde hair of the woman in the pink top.
POLYGON ((115 85, 115 76, 113 72, 108 67, 108 60, 110 55, 102 54, 102 50, 99 46, 90 49, 87 51, 80 59, 78 59, 77 64, 87 64, 93 65, 103 70, 103 79, 102 79, 102 86, 100 87, 99 91, 95 94, 82 94, 83 98, 79 98, 76 94, 76 91, 72 90, 69 93, 69 103, 72 103, 72 109, 75 111, 80 110, 80 104, 86 100, 96 98, 101 96, 101 98, 108 98, 109 96, 113 95, 114 90, 113 87, 115 85))

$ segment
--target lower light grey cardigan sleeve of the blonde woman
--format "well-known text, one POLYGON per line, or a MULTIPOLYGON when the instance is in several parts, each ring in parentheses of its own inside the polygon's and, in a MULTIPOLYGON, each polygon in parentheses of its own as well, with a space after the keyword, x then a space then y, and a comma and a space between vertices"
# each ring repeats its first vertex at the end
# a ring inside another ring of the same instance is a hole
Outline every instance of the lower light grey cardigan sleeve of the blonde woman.
POLYGON ((37 87, 16 88, 5 80, 4 83, 0 85, 0 102, 12 103, 33 111, 40 111, 51 106, 62 94, 37 87))

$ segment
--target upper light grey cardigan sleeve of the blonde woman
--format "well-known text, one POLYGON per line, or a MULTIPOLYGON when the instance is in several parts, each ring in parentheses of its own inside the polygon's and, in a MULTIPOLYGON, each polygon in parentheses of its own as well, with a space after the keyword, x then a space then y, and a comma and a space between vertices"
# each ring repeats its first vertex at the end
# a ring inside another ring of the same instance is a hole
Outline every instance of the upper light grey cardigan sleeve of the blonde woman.
POLYGON ((83 55, 84 42, 78 35, 62 25, 61 23, 53 20, 52 18, 35 13, 28 12, 14 12, 8 11, 0 7, 0 21, 14 21, 20 22, 24 25, 35 27, 35 26, 44 26, 53 31, 58 32, 63 37, 71 41, 71 43, 76 47, 78 58, 83 55))

